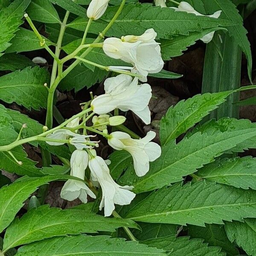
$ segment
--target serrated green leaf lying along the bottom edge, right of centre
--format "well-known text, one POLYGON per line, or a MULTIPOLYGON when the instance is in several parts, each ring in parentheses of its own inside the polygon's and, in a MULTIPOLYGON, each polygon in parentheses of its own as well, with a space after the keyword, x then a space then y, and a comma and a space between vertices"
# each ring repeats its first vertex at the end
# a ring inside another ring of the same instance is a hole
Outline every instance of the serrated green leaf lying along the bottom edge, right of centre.
POLYGON ((225 256, 221 253, 219 247, 208 247, 202 239, 191 239, 184 236, 176 238, 168 236, 160 239, 145 241, 145 244, 151 247, 157 247, 169 251, 169 256, 225 256))

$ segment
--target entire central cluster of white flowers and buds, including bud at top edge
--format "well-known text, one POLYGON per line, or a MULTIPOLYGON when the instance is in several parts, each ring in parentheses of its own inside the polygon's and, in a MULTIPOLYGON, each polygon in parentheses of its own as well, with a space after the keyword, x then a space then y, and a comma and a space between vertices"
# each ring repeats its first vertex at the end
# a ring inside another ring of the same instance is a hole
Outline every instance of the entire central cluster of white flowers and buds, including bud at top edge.
MULTIPOLYGON (((108 0, 92 0, 87 9, 87 16, 90 20, 97 20, 104 14, 107 6, 108 0)), ((149 171, 149 162, 160 157, 160 146, 152 142, 156 136, 154 131, 149 131, 141 139, 134 139, 123 131, 108 133, 108 126, 118 126, 125 122, 124 116, 112 116, 111 111, 116 109, 132 111, 145 124, 150 124, 148 103, 152 96, 151 86, 143 82, 147 81, 149 73, 158 73, 163 68, 160 45, 155 41, 156 37, 154 29, 148 29, 143 35, 105 39, 102 46, 105 54, 128 62, 132 67, 109 67, 109 70, 119 70, 121 74, 105 80, 105 94, 85 103, 86 114, 78 114, 78 117, 71 118, 66 126, 46 136, 50 145, 68 143, 75 149, 70 159, 70 175, 78 179, 68 180, 64 184, 61 198, 68 201, 79 198, 86 203, 88 195, 96 198, 96 190, 92 184, 97 183, 102 189, 99 209, 104 207, 105 216, 109 216, 115 209, 115 204, 130 204, 135 197, 131 191, 133 186, 120 186, 113 180, 107 161, 98 156, 94 149, 99 147, 99 141, 91 140, 95 135, 87 135, 87 131, 105 137, 113 149, 128 151, 133 158, 137 176, 145 175, 149 171), (90 118, 92 126, 87 126, 90 118), (90 177, 85 175, 87 168, 90 170, 90 177), (88 186, 84 180, 87 180, 88 186)))

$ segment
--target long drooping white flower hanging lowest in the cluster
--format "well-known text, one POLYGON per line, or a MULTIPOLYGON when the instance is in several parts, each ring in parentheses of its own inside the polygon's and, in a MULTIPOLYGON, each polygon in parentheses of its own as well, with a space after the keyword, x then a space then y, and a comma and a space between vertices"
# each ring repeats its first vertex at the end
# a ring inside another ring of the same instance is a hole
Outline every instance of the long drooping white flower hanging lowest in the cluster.
POLYGON ((134 199, 134 192, 129 191, 133 186, 119 186, 111 177, 105 161, 99 157, 89 160, 89 168, 94 181, 98 181, 102 188, 102 201, 99 209, 104 208, 105 216, 110 216, 115 209, 114 204, 130 204, 134 199))

